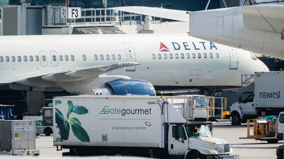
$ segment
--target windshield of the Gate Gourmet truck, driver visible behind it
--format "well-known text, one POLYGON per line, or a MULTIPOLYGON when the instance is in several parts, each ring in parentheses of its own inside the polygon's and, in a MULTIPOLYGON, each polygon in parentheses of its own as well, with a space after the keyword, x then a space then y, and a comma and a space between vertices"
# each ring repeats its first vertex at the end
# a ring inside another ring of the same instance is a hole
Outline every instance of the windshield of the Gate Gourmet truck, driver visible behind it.
POLYGON ((212 137, 212 134, 206 124, 185 125, 188 137, 212 137))

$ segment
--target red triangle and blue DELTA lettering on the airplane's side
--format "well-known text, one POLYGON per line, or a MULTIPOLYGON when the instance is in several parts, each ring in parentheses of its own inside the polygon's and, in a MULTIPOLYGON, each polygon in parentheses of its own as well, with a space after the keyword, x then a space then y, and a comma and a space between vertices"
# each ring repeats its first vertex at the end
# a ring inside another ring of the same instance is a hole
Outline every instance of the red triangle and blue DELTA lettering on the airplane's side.
MULTIPOLYGON (((174 50, 218 50, 213 42, 171 42, 174 50)), ((160 52, 170 51, 170 49, 162 42, 160 42, 160 52)))

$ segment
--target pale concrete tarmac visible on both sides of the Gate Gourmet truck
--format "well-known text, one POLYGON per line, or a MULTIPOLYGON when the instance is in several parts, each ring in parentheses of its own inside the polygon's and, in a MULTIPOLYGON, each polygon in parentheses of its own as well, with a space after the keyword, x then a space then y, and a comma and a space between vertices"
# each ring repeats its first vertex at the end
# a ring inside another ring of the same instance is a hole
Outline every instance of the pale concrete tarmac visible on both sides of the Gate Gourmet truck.
MULTIPOLYGON (((241 159, 275 159, 276 147, 283 145, 283 141, 279 141, 277 144, 269 144, 266 141, 239 139, 239 137, 247 137, 247 124, 232 126, 231 122, 213 122, 213 136, 227 140, 234 151, 233 154, 239 154, 241 159)), ((52 134, 51 136, 44 134, 37 136, 36 148, 42 150, 42 154, 38 157, 48 158, 62 158, 62 152, 69 151, 68 149, 56 151, 56 146, 53 146, 52 134)))

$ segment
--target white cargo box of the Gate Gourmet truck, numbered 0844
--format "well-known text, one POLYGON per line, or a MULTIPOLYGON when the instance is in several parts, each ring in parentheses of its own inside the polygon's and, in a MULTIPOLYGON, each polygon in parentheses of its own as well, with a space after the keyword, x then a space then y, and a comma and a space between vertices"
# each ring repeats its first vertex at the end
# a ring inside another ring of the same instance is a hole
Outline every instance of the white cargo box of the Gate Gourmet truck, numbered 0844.
POLYGON ((55 145, 164 147, 164 120, 186 122, 160 96, 66 96, 53 102, 55 145))

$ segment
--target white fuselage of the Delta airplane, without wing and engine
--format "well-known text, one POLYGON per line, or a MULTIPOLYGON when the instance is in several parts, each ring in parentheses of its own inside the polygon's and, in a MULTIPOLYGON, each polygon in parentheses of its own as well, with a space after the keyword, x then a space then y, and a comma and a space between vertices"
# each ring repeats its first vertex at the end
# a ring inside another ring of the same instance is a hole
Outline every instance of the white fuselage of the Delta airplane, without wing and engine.
POLYGON ((241 74, 269 71, 250 52, 186 34, 1 36, 0 40, 2 84, 122 62, 140 65, 107 75, 156 86, 232 88, 241 85, 241 74))

